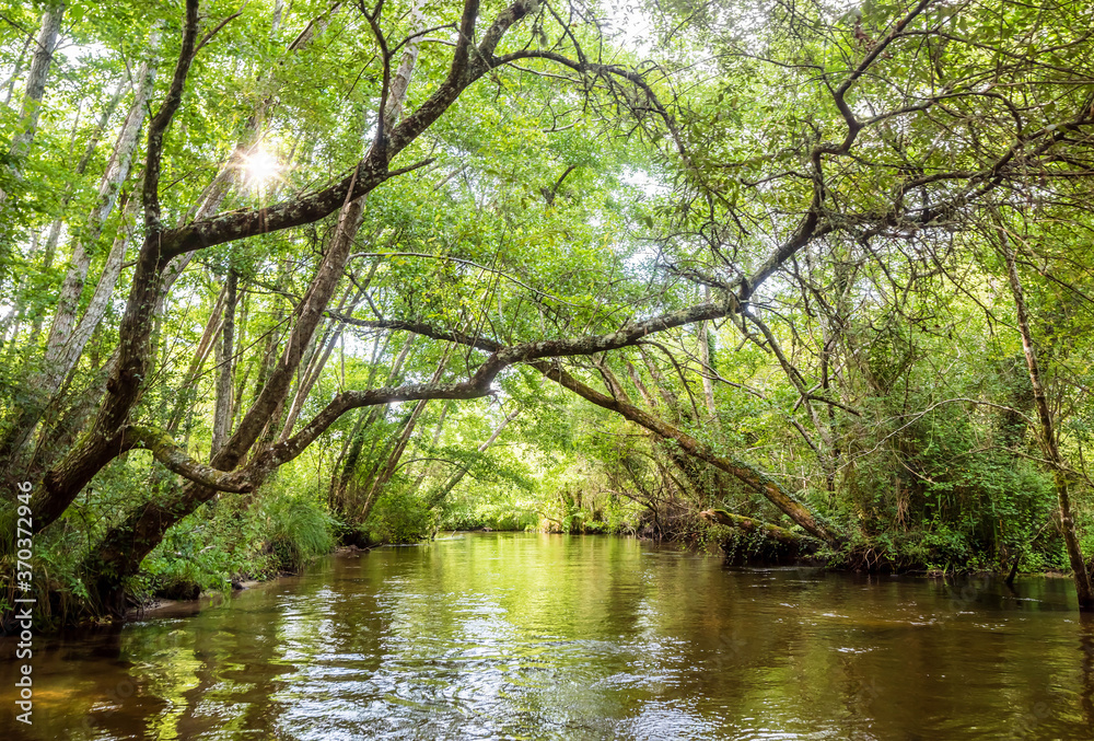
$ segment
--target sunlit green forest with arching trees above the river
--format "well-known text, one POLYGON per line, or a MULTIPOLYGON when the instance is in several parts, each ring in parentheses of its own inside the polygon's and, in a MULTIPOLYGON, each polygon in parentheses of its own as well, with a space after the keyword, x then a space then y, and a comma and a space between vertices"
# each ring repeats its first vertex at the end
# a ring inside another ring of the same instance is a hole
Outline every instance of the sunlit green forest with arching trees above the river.
POLYGON ((1070 569, 1094 609, 1092 27, 8 5, 2 518, 28 482, 80 614, 476 526, 1070 569))

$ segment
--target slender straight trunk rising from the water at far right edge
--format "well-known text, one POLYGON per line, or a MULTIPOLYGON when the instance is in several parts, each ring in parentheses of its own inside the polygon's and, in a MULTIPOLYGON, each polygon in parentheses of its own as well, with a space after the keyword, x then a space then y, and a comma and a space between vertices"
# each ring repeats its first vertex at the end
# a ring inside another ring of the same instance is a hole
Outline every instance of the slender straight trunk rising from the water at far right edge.
POLYGON ((1040 379, 1037 364, 1037 351, 1033 344, 1033 333, 1029 331, 1029 312, 1026 309, 1022 281, 1019 278, 1014 252, 1006 244, 1006 235, 1002 234, 1003 251, 1006 258, 1006 275, 1010 279, 1011 294, 1014 297, 1014 309, 1017 314, 1019 332, 1022 334, 1022 350, 1025 352, 1026 367, 1029 369, 1029 385, 1033 386, 1034 404, 1040 421, 1040 444, 1045 455, 1052 465, 1052 478, 1056 483, 1056 496, 1060 505, 1060 528, 1063 530, 1063 543, 1068 551, 1068 560, 1074 572, 1075 594, 1079 598, 1081 612, 1094 612, 1094 590, 1091 589, 1091 575, 1086 570, 1086 561, 1075 534, 1075 522, 1071 513, 1071 495, 1068 490, 1066 464, 1056 441, 1056 430, 1052 410, 1048 406, 1048 397, 1040 379))

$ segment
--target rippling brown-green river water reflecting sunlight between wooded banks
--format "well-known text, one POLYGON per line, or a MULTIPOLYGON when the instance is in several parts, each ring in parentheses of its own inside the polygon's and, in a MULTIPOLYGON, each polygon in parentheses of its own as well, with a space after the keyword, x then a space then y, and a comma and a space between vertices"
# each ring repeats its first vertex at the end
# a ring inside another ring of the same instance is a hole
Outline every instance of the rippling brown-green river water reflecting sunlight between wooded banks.
POLYGON ((728 570, 484 533, 333 557, 189 616, 43 640, 12 739, 1094 739, 1062 579, 728 570))

